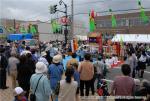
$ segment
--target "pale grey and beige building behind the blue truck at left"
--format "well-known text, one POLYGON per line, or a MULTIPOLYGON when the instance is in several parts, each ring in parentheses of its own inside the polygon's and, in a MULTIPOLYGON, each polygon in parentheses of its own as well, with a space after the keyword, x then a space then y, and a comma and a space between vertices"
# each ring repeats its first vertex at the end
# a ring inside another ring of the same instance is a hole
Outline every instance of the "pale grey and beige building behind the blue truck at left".
POLYGON ((37 33, 36 36, 40 41, 55 41, 55 40, 64 40, 64 35, 59 33, 53 33, 51 23, 42 22, 42 21, 21 21, 13 19, 2 19, 2 26, 4 27, 4 35, 9 34, 21 34, 18 26, 24 26, 28 29, 29 25, 32 24, 36 27, 37 33), (7 28, 13 27, 16 31, 8 31, 7 28))

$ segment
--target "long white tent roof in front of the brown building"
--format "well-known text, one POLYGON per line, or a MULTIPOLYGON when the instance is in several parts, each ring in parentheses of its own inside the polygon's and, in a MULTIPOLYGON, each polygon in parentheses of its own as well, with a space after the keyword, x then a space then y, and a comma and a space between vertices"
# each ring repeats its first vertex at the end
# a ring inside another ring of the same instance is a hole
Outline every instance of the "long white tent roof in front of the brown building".
POLYGON ((150 43, 150 34, 116 34, 112 42, 150 43))

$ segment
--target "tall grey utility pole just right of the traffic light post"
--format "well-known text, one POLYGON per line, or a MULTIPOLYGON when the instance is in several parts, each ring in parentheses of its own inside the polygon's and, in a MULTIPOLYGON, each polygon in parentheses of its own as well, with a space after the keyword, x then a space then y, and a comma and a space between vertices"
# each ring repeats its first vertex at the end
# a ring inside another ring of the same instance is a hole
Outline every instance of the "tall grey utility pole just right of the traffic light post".
POLYGON ((74 1, 71 0, 71 33, 70 39, 74 37, 74 1))

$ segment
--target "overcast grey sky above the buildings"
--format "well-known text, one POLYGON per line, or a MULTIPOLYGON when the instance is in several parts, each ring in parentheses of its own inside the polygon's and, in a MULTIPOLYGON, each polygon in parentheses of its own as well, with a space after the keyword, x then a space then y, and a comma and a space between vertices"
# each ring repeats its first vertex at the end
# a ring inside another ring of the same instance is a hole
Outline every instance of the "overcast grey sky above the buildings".
MULTIPOLYGON (((56 15, 50 15, 48 6, 58 4, 60 0, 0 0, 0 14, 3 18, 20 20, 47 21, 56 15)), ((63 0, 70 5, 71 0, 63 0)), ((145 8, 150 8, 150 0, 141 0, 145 8)), ((63 8, 60 7, 60 8, 63 8)), ((97 12, 112 10, 125 10, 138 8, 137 0, 74 0, 74 13, 88 13, 90 9, 97 12)), ((62 14, 58 14, 60 16, 62 14)), ((76 15, 75 20, 88 22, 88 15, 76 15)))

